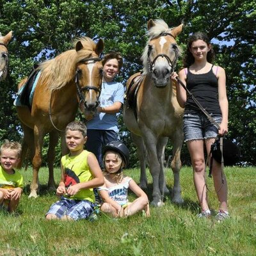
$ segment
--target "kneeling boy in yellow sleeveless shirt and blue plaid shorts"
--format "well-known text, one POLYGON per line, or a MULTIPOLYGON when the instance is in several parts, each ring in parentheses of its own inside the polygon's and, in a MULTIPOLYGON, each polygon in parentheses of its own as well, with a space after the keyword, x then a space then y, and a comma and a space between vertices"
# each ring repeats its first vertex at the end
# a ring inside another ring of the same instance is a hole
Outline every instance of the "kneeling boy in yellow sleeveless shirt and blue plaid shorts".
POLYGON ((104 184, 96 157, 84 150, 87 136, 83 122, 68 124, 65 138, 70 153, 61 157, 61 181, 56 191, 61 199, 52 204, 46 214, 47 220, 89 218, 95 207, 93 188, 104 184))

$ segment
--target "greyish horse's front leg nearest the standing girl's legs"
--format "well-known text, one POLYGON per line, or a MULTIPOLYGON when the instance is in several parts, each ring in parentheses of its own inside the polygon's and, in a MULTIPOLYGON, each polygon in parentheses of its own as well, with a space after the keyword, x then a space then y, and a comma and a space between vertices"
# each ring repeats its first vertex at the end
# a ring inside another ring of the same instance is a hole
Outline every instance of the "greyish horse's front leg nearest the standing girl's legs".
POLYGON ((182 204, 184 200, 181 197, 181 187, 180 187, 180 151, 183 143, 183 133, 181 131, 176 131, 172 138, 173 141, 173 158, 171 162, 171 168, 174 177, 174 184, 172 189, 172 202, 175 204, 182 204))

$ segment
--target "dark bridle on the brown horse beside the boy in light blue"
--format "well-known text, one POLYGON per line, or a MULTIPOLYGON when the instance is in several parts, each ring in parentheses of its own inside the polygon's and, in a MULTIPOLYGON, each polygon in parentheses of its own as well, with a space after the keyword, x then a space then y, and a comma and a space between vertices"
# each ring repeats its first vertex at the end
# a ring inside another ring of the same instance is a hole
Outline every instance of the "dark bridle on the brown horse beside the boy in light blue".
MULTIPOLYGON (((79 62, 86 62, 86 61, 100 61, 101 58, 84 58, 83 60, 79 61, 79 62)), ((99 105, 99 97, 100 97, 100 93, 101 90, 93 85, 85 85, 85 86, 80 86, 79 84, 79 74, 78 74, 78 70, 76 70, 76 76, 75 76, 75 82, 76 82, 76 89, 77 89, 77 96, 79 98, 79 104, 81 103, 85 103, 85 99, 84 99, 84 95, 83 95, 83 91, 90 91, 90 90, 95 90, 98 95, 97 95, 97 104, 99 105)))

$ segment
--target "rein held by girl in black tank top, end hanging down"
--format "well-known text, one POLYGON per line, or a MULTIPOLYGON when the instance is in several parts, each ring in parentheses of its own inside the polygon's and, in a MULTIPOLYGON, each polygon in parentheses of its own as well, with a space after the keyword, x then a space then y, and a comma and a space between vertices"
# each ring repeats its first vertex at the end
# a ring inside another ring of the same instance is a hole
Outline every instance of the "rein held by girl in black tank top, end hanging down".
MULTIPOLYGON (((200 104, 200 102, 198 102, 198 100, 194 97, 194 95, 191 92, 189 92, 188 88, 185 86, 184 83, 182 83, 182 81, 180 81, 179 77, 177 77, 176 79, 177 79, 178 83, 184 88, 184 90, 186 90, 186 92, 188 92, 189 96, 194 100, 195 104, 205 114, 205 116, 209 119, 209 121, 213 125, 215 125, 218 129, 220 129, 220 125, 217 124, 217 122, 212 118, 212 116, 203 108, 203 106, 200 104)), ((223 136, 220 136, 220 151, 221 151, 221 186, 220 186, 220 189, 218 189, 218 191, 216 191, 216 193, 220 192, 221 188, 224 185, 223 136)), ((211 154, 211 152, 210 152, 210 154, 211 154)), ((210 154, 209 154, 209 156, 207 156, 207 161, 205 163, 205 170, 206 170, 206 166, 208 164, 210 154)), ((212 162, 212 159, 211 159, 211 162, 212 162)), ((210 172, 209 172, 209 177, 212 177, 211 176, 211 168, 210 168, 210 172)), ((205 179, 205 186, 207 188, 206 179, 205 179)), ((207 188, 207 190, 210 191, 208 188, 207 188)))

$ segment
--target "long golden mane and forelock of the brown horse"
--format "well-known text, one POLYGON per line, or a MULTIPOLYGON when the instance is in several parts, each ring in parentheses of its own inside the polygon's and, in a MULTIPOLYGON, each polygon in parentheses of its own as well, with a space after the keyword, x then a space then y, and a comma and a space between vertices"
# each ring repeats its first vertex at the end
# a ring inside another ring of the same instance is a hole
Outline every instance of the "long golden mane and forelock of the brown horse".
POLYGON ((49 90, 60 89, 74 79, 76 66, 79 61, 88 58, 95 51, 96 44, 86 36, 74 40, 74 47, 81 41, 83 49, 76 51, 71 49, 61 53, 52 60, 40 63, 42 83, 49 84, 49 90))

